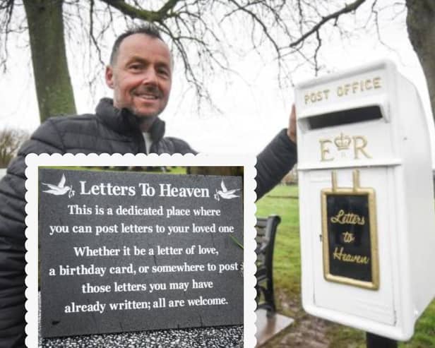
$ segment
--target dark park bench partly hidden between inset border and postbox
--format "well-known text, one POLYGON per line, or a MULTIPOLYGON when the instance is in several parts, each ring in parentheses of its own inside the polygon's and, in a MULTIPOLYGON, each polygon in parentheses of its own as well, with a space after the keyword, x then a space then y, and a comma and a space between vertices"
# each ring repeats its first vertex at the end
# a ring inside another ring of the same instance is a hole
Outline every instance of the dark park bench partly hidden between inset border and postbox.
POLYGON ((275 234, 281 218, 278 215, 257 217, 256 223, 256 290, 257 309, 265 308, 267 316, 275 315, 275 295, 273 293, 273 248, 275 234))

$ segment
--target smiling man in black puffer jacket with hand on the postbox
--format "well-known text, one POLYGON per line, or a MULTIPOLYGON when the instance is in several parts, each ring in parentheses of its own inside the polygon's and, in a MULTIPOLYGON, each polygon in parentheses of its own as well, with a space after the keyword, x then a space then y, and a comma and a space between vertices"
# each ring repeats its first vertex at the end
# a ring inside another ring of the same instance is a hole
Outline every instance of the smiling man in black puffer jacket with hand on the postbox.
MULTIPOLYGON (((184 140, 165 138, 158 118, 169 99, 172 66, 169 48, 153 26, 125 32, 114 43, 105 73, 113 100, 102 99, 96 114, 47 120, 9 165, 0 181, 0 347, 23 347, 25 339, 25 155, 195 153, 184 140)), ((289 130, 258 155, 258 197, 296 161, 294 110, 292 115, 289 130)))

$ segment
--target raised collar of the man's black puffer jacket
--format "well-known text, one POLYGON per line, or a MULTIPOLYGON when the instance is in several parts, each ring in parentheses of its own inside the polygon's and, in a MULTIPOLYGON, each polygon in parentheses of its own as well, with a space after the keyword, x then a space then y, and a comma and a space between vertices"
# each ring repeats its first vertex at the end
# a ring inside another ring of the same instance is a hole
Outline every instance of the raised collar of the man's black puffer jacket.
MULTIPOLYGON (((103 124, 117 133, 129 136, 135 132, 141 132, 139 127, 138 117, 131 113, 128 109, 117 109, 113 106, 113 100, 110 98, 102 98, 95 109, 97 118, 103 124)), ((151 139, 153 143, 160 141, 165 135, 165 121, 158 117, 153 122, 150 128, 151 139)))

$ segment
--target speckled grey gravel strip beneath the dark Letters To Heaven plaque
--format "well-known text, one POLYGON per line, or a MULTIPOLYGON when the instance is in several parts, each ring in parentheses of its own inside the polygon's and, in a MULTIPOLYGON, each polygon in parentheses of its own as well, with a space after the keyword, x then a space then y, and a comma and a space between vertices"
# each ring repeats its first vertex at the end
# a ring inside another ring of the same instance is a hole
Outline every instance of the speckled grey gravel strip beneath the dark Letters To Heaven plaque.
MULTIPOLYGON (((41 329, 39 311, 39 330, 41 329)), ((40 348, 239 348, 243 347, 243 325, 214 328, 153 330, 117 334, 41 338, 40 348)))

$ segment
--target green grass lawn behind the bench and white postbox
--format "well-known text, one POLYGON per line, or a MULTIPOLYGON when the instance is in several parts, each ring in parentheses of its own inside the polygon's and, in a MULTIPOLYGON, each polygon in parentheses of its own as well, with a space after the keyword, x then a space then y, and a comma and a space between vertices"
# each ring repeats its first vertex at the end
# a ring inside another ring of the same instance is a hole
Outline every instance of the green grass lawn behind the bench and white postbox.
MULTIPOLYGON (((279 313, 295 319, 293 328, 285 330, 282 335, 297 328, 298 319, 307 316, 302 309, 300 299, 301 253, 297 196, 297 186, 277 186, 257 202, 256 215, 266 217, 276 214, 281 217, 273 260, 275 301, 279 313)), ((366 347, 364 332, 346 326, 330 323, 326 336, 331 348, 366 347)), ((266 347, 275 347, 275 345, 278 344, 272 340, 266 347)), ((435 301, 431 302, 417 321, 412 340, 400 343, 399 347, 435 348, 435 301)))

